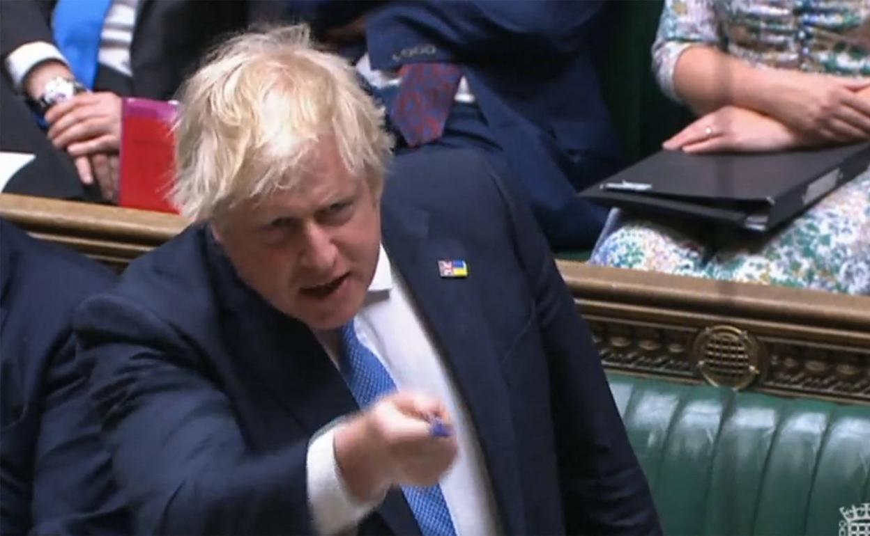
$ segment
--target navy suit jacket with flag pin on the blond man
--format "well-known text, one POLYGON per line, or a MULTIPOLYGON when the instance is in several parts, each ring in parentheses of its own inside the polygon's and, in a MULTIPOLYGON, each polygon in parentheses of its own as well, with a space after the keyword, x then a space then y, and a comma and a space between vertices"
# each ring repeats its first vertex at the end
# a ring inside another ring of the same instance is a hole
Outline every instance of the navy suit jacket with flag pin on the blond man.
MULTIPOLYGON (((480 156, 456 151, 398 158, 382 215, 385 248, 471 412, 505 533, 659 532, 528 208, 480 156), (469 276, 440 278, 443 259, 467 261, 469 276)), ((311 330, 245 287, 207 227, 85 301, 77 334, 137 532, 313 532, 308 442, 358 407, 311 330)), ((419 527, 391 492, 360 533, 419 527)))

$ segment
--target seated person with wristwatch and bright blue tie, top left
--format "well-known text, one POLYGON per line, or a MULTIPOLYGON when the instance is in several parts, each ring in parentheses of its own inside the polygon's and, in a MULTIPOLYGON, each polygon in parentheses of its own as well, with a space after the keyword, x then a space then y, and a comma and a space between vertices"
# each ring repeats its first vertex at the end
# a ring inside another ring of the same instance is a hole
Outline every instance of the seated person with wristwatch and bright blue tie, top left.
POLYGON ((113 199, 120 97, 170 99, 207 47, 225 32, 244 28, 267 5, 262 0, 0 2, 5 75, 0 150, 37 156, 5 191, 113 199), (43 114, 44 129, 37 122, 43 114))

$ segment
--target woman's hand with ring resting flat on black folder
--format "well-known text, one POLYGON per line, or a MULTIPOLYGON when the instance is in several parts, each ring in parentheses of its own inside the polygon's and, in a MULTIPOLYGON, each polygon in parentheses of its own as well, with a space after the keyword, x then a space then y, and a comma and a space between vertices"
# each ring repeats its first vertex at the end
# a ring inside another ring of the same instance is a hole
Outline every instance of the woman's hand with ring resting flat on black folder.
POLYGON ((750 109, 724 106, 695 120, 662 144, 686 153, 764 153, 807 145, 793 129, 750 109))

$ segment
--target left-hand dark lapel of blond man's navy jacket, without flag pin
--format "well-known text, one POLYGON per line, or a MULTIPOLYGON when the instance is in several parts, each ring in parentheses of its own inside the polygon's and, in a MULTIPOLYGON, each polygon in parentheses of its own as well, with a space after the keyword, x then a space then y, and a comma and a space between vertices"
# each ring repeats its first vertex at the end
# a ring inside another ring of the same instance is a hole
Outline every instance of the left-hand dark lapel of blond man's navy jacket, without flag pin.
MULTIPOLYGON (((209 235, 211 231, 206 230, 209 235)), ((281 314, 244 285, 211 236, 211 265, 224 297, 224 329, 235 355, 250 356, 245 367, 273 394, 308 435, 338 416, 358 411, 350 389, 320 342, 305 324, 281 314)), ((396 534, 419 534, 405 496, 387 494, 376 512, 396 534)))

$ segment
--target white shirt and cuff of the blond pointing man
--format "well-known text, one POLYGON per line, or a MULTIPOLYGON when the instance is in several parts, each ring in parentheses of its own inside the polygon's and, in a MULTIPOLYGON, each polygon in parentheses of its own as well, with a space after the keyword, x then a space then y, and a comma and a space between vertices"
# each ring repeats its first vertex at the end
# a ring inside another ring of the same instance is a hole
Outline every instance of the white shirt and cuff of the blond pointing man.
MULTIPOLYGON (((441 480, 441 491, 457 535, 500 533, 491 480, 471 415, 433 344, 432 335, 424 327, 405 282, 392 268, 383 246, 354 326, 359 341, 377 355, 399 389, 438 398, 450 411, 458 455, 441 480)), ((340 349, 335 332, 316 335, 337 364, 340 349)), ((308 496, 315 527, 321 534, 338 533, 356 526, 378 506, 377 503, 359 504, 347 492, 332 446, 334 426, 328 425, 316 434, 308 449, 308 496)))

